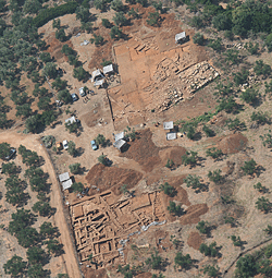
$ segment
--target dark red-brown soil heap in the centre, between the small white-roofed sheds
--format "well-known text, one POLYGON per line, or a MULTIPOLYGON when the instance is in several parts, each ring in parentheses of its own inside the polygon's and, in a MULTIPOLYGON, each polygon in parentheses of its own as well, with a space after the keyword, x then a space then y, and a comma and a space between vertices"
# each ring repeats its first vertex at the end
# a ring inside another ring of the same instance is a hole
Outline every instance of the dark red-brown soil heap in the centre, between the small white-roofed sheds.
POLYGON ((149 129, 139 132, 137 138, 131 142, 129 145, 129 148, 120 156, 137 161, 144 171, 150 172, 156 165, 161 162, 160 147, 153 144, 152 133, 149 129))

